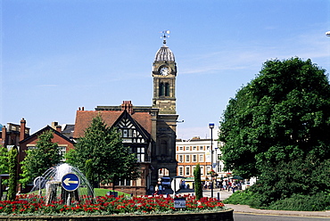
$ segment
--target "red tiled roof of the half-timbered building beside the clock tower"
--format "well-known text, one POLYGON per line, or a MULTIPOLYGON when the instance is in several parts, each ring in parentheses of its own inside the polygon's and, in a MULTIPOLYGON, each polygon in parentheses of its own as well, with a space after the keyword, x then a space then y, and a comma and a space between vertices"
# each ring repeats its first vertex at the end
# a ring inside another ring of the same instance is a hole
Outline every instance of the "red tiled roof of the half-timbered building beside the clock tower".
MULTIPOLYGON (((79 138, 84 136, 85 130, 91 125, 92 120, 98 113, 101 114, 107 127, 112 127, 114 122, 120 118, 122 112, 123 111, 77 111, 73 137, 79 138)), ((152 134, 152 116, 149 112, 136 112, 131 116, 139 125, 144 127, 149 134, 152 134)))

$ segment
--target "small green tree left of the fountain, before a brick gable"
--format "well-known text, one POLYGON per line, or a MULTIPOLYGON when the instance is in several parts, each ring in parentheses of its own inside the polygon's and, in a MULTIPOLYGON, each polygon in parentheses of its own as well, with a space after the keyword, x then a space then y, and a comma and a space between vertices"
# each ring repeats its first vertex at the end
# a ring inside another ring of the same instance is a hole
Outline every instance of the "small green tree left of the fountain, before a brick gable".
POLYGON ((57 143, 53 143, 54 135, 46 131, 38 136, 36 149, 26 151, 27 155, 21 162, 22 174, 20 183, 28 184, 37 176, 42 176, 48 168, 54 167, 62 160, 57 143))

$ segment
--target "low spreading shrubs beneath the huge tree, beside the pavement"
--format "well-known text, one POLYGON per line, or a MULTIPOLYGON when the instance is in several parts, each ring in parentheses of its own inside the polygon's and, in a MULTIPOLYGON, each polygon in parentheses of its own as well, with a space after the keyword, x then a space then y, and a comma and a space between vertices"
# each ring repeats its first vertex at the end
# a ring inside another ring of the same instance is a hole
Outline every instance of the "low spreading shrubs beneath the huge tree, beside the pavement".
POLYGON ((290 162, 278 162, 275 168, 265 169, 251 191, 259 197, 260 205, 284 200, 294 193, 315 195, 330 191, 330 160, 320 161, 315 156, 290 162))

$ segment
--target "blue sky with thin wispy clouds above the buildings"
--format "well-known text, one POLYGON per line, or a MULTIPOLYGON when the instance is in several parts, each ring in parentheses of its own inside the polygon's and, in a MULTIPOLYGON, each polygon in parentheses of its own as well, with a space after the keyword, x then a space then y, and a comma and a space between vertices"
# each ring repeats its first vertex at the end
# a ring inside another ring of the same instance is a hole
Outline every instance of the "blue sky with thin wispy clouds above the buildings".
POLYGON ((262 63, 298 56, 330 72, 328 0, 0 0, 0 123, 34 133, 78 107, 152 105, 152 65, 169 29, 177 137, 210 137, 262 63))

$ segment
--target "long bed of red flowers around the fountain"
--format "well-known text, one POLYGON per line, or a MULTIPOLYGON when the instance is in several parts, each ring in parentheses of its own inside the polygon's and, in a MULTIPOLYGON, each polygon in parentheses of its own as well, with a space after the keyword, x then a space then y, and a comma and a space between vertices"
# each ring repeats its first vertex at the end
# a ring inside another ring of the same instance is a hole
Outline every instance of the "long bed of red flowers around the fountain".
MULTIPOLYGON (((185 212, 210 211, 223 209, 221 201, 202 198, 197 201, 195 196, 183 195, 186 198, 185 212)), ((182 209, 180 209, 182 210, 182 209)), ((62 201, 53 201, 45 205, 45 199, 37 196, 22 195, 16 201, 0 201, 0 215, 113 215, 113 214, 156 214, 173 213, 174 199, 164 196, 133 196, 133 197, 98 197, 95 201, 78 202, 70 206, 62 201)))

